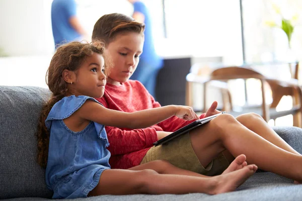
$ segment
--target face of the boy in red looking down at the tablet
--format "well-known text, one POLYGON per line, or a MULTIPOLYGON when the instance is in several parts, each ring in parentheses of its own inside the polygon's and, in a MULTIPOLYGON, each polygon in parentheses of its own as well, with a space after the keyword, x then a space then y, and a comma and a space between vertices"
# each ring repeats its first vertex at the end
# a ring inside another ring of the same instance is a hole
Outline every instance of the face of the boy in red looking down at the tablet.
POLYGON ((126 82, 137 67, 142 53, 143 35, 133 32, 118 34, 105 48, 112 59, 112 68, 107 82, 120 85, 126 82))

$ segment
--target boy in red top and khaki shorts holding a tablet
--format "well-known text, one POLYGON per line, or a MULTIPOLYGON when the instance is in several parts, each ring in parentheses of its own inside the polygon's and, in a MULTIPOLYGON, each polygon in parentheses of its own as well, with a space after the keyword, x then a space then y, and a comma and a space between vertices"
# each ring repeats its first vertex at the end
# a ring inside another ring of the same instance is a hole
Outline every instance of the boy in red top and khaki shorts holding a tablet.
MULTIPOLYGON (((129 80, 143 51, 143 31, 143 24, 122 14, 105 15, 94 26, 93 39, 105 41, 105 52, 113 61, 104 96, 97 98, 108 109, 135 112, 160 107, 140 82, 129 80)), ((216 107, 214 102, 200 118, 219 113, 216 107)), ((234 156, 245 154, 248 163, 302 181, 302 156, 256 114, 237 118, 223 114, 167 144, 153 147, 153 142, 189 123, 171 117, 146 129, 106 126, 112 168, 163 159, 182 169, 216 175, 234 156)))

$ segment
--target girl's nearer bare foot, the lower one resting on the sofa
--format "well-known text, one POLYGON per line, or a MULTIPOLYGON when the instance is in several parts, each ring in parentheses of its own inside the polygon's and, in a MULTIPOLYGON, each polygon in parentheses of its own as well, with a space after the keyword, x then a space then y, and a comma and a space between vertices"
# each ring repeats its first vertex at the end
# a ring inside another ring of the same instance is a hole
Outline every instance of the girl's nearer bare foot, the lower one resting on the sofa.
POLYGON ((209 194, 218 194, 223 192, 231 192, 236 190, 238 186, 243 184, 256 170, 256 165, 247 165, 239 170, 215 176, 216 185, 209 194))

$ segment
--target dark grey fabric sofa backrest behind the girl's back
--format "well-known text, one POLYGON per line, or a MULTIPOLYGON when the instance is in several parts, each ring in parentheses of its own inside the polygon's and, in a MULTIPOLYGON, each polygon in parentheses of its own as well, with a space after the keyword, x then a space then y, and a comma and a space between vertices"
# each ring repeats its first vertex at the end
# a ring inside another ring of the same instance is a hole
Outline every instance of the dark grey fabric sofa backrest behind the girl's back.
POLYGON ((0 199, 52 196, 36 160, 38 119, 49 96, 46 88, 0 86, 0 199))

